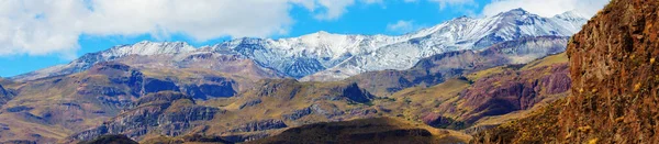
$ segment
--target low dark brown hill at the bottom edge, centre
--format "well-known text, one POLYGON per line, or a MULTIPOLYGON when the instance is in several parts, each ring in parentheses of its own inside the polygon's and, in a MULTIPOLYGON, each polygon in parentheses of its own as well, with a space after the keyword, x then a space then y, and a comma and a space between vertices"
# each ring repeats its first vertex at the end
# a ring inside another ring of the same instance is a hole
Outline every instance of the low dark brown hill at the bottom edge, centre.
MULTIPOLYGON (((305 143, 462 143, 449 131, 428 131, 410 122, 392 118, 362 119, 344 122, 322 122, 286 130, 279 135, 248 143, 305 144, 305 143)), ((432 129, 432 128, 431 128, 432 129)))

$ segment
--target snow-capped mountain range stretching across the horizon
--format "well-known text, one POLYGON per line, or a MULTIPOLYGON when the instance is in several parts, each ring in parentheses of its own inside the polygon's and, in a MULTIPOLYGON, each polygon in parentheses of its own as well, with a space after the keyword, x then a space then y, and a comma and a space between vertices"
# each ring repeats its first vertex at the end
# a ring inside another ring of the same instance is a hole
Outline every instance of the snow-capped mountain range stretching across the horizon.
POLYGON ((301 80, 338 80, 365 71, 407 69, 421 58, 460 49, 483 49, 493 44, 526 36, 571 36, 585 24, 587 18, 566 12, 543 18, 514 9, 493 16, 457 18, 404 35, 343 35, 317 32, 291 38, 236 38, 194 48, 185 42, 139 42, 91 53, 67 64, 24 75, 15 80, 31 80, 82 71, 99 62, 130 55, 181 55, 212 52, 250 58, 301 80), (313 78, 311 78, 313 77, 313 78))

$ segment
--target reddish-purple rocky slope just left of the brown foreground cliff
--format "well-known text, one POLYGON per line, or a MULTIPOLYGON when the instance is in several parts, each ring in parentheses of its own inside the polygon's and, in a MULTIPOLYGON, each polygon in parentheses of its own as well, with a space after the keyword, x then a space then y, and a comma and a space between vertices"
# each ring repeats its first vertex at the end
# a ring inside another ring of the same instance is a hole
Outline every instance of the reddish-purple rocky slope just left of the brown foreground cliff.
POLYGON ((471 123, 482 117, 533 108, 550 95, 568 91, 567 64, 529 70, 507 70, 476 81, 461 92, 465 107, 473 109, 462 119, 471 123))

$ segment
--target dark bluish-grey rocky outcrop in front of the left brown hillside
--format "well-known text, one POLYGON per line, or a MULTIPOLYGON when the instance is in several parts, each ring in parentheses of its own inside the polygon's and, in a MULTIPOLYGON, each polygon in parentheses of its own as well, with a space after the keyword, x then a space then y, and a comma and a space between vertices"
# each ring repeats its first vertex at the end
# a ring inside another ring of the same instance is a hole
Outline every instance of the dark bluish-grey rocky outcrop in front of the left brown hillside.
POLYGON ((197 121, 212 120, 217 108, 194 104, 190 96, 174 91, 160 91, 147 95, 133 109, 107 121, 102 125, 74 134, 71 140, 90 140, 103 134, 125 134, 141 139, 150 132, 177 136, 194 126, 197 121))

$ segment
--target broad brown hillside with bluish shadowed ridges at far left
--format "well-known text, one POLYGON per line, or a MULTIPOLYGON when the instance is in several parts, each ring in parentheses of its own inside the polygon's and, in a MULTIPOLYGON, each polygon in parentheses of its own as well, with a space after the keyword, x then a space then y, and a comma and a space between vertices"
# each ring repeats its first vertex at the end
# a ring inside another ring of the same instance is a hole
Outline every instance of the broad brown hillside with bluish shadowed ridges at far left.
POLYGON ((141 98, 158 91, 178 91, 203 100, 232 97, 254 82, 255 79, 231 73, 150 69, 118 62, 98 63, 86 71, 67 76, 16 82, 0 80, 3 130, 0 142, 63 140, 101 125, 131 110, 141 98))

